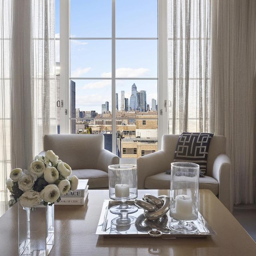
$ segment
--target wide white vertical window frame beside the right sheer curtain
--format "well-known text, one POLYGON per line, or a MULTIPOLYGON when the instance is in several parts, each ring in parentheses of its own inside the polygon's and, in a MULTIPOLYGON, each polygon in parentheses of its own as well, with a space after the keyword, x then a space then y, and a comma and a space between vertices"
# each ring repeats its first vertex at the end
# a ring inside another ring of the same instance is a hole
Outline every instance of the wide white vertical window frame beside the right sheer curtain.
POLYGON ((167 54, 167 0, 158 0, 158 149, 162 135, 168 134, 167 54))

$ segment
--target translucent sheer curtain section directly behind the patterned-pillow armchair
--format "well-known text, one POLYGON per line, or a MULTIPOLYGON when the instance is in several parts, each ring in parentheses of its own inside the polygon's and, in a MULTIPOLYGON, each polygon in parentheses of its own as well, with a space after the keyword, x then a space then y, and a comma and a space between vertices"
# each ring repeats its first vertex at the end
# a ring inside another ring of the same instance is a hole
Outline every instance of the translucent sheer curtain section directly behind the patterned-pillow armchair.
POLYGON ((168 0, 169 133, 209 131, 210 0, 168 0))

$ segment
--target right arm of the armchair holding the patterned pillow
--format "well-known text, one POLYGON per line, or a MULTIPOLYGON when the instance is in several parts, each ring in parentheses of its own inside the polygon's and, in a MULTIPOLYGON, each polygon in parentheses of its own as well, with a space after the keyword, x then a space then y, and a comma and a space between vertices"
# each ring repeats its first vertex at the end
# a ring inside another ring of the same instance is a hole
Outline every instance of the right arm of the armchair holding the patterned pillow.
POLYGON ((230 166, 230 158, 226 154, 219 154, 213 164, 212 176, 219 182, 219 200, 232 213, 233 186, 230 166))

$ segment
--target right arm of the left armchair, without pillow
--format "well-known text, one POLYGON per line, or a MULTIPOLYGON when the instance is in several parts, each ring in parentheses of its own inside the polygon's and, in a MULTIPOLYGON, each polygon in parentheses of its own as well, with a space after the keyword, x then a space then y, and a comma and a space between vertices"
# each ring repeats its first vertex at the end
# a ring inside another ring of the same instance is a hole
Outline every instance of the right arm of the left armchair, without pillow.
POLYGON ((97 169, 108 172, 110 164, 119 164, 119 157, 106 149, 102 149, 98 156, 97 169))

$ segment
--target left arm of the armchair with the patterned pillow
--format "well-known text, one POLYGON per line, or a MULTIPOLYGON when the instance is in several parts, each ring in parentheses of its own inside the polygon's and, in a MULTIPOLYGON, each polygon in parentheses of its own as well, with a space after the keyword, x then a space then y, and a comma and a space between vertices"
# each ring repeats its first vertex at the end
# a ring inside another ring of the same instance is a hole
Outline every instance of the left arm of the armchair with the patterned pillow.
POLYGON ((144 183, 148 176, 170 170, 170 158, 163 150, 137 158, 138 189, 145 189, 144 183))

